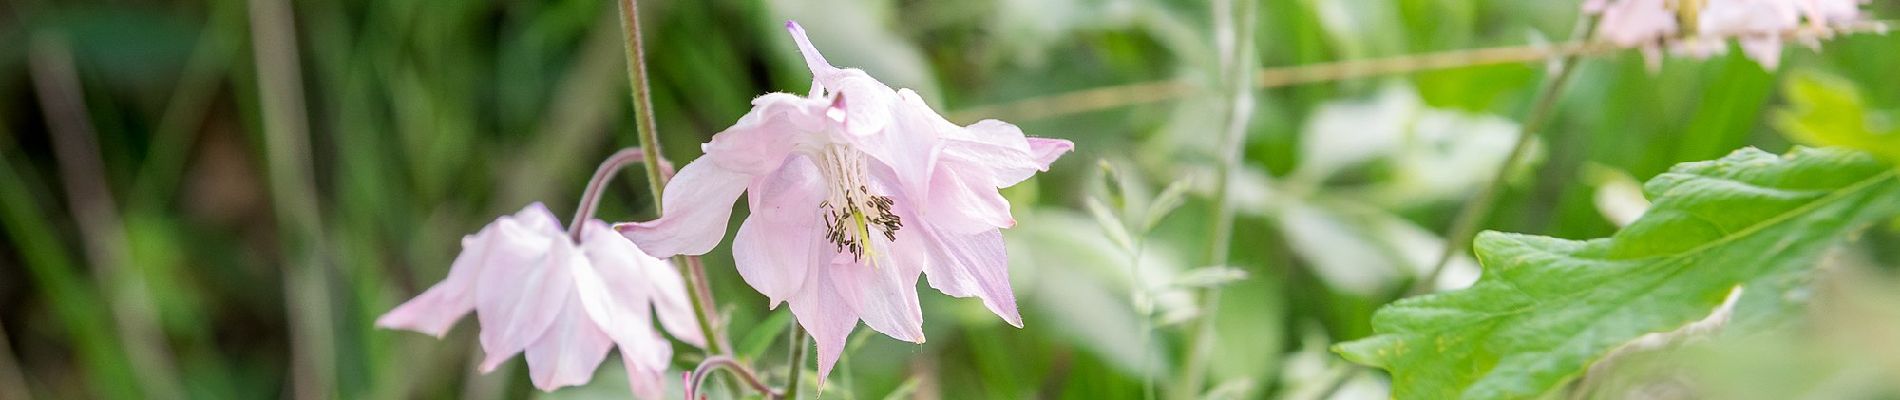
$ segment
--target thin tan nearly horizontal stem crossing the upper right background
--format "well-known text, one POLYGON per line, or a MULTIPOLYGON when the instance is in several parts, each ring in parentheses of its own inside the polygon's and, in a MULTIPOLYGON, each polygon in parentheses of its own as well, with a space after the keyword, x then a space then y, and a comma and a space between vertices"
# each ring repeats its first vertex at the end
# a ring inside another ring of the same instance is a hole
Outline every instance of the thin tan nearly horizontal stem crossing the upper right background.
MULTIPOLYGON (((1784 40, 1828 38, 1835 34, 1887 32, 1885 21, 1860 21, 1834 25, 1826 28, 1794 28, 1780 32, 1784 40)), ((1505 45, 1482 49, 1452 49, 1436 53, 1396 55, 1381 59, 1334 61, 1296 66, 1271 66, 1254 72, 1254 87, 1288 87, 1341 80, 1362 80, 1374 76, 1412 74, 1425 70, 1452 70, 1486 64, 1516 64, 1547 61, 1552 57, 1590 57, 1609 55, 1630 47, 1609 42, 1566 42, 1550 45, 1505 45)), ((1127 85, 1091 87, 1072 93, 1032 97, 1001 104, 971 106, 950 112, 952 121, 973 121, 996 118, 1007 121, 1047 119, 1083 112, 1100 112, 1121 106, 1153 104, 1182 99, 1197 91, 1189 80, 1140 82, 1127 85)))

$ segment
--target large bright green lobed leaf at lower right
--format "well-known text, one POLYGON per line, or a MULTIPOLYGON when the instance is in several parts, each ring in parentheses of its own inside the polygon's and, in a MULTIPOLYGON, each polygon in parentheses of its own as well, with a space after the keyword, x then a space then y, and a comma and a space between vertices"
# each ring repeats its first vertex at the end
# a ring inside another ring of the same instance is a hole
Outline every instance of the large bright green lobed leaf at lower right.
POLYGON ((1398 398, 1541 396, 1617 345, 1699 320, 1758 277, 1809 269, 1900 212, 1894 169, 1847 150, 1744 148, 1676 165, 1644 191, 1653 207, 1607 239, 1478 235, 1476 284, 1385 305, 1372 337, 1334 351, 1391 372, 1398 398))

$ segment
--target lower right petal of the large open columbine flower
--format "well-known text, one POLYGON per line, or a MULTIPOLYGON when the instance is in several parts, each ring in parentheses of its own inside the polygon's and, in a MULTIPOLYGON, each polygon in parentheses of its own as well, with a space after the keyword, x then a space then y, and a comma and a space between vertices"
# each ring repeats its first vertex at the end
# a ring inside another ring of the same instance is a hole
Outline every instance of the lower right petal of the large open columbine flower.
MULTIPOLYGON (((906 229, 912 229, 906 226, 906 229)), ((923 265, 923 275, 931 288, 948 296, 982 298, 982 305, 1003 317, 1009 324, 1022 328, 1022 315, 1016 311, 1016 294, 1009 288, 1009 256, 1003 250, 1003 233, 990 229, 973 235, 944 233, 929 224, 920 224, 918 237, 923 241, 899 241, 899 246, 922 246, 931 254, 923 265)), ((914 252, 914 250, 912 250, 914 252)))

